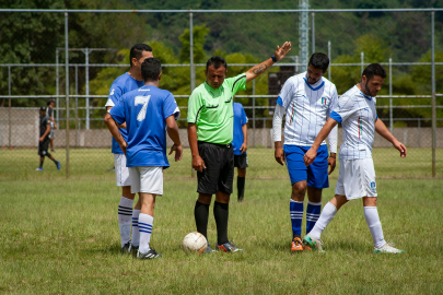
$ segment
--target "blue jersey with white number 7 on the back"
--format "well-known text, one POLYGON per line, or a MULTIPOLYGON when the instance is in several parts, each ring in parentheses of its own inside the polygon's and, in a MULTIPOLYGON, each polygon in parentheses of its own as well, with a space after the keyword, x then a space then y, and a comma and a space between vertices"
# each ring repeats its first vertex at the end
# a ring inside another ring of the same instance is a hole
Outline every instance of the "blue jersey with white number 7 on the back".
POLYGON ((168 167, 166 156, 166 118, 179 110, 171 92, 145 85, 125 94, 109 110, 128 130, 127 167, 168 167))

